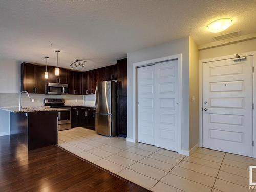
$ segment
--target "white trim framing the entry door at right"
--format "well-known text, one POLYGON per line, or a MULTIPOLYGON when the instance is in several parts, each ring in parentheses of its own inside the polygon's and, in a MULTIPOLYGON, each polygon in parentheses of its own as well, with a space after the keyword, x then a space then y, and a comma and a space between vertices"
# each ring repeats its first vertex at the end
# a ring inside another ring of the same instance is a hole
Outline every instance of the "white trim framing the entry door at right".
MULTIPOLYGON (((256 51, 245 52, 245 53, 238 53, 241 57, 253 55, 253 66, 256 65, 256 51)), ((201 59, 199 60, 199 147, 202 147, 202 132, 203 132, 203 111, 202 111, 202 104, 203 104, 203 63, 216 61, 216 60, 223 60, 223 59, 230 59, 234 58, 235 54, 227 55, 222 57, 214 57, 209 59, 201 59)), ((254 66, 256 67, 256 66, 254 66)), ((253 73, 253 85, 256 84, 256 71, 253 73)), ((253 103, 256 101, 256 88, 253 86, 253 103)), ((256 103, 255 103, 256 104, 256 103)), ((255 109, 255 107, 254 107, 255 109)), ((256 110, 256 109, 255 109, 256 110)), ((253 111, 253 141, 256 141, 256 115, 253 111)), ((256 147, 253 147, 253 157, 256 158, 256 147)))

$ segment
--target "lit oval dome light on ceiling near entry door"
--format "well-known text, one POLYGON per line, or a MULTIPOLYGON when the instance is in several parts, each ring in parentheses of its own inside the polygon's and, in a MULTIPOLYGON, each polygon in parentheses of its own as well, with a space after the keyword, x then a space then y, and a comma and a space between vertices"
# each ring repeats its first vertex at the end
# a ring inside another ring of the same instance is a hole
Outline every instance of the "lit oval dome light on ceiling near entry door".
POLYGON ((219 33, 229 28, 232 25, 232 22, 233 22, 233 19, 231 18, 221 18, 211 22, 207 26, 207 29, 212 33, 219 33))

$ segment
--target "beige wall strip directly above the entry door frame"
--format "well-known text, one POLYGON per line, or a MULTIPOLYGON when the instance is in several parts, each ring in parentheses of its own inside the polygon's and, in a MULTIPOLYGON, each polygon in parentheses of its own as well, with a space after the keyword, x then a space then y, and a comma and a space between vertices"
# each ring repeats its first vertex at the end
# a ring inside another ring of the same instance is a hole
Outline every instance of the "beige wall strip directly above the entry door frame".
POLYGON ((236 44, 200 50, 199 59, 214 58, 249 51, 256 51, 256 39, 237 42, 236 44))

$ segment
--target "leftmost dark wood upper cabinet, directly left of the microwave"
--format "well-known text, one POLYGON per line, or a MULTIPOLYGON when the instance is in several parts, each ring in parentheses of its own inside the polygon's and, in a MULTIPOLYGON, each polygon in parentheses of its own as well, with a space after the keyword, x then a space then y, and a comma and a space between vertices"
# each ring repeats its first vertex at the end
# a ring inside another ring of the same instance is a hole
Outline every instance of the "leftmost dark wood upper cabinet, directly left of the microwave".
POLYGON ((21 90, 29 93, 45 93, 45 67, 22 63, 21 90))

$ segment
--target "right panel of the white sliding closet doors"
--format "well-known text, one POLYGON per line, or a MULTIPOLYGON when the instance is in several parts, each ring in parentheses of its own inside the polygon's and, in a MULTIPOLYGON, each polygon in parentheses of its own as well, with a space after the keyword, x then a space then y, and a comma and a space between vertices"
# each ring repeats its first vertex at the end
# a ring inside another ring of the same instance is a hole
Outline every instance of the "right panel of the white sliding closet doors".
POLYGON ((178 151, 178 60, 155 65, 155 146, 178 151))

